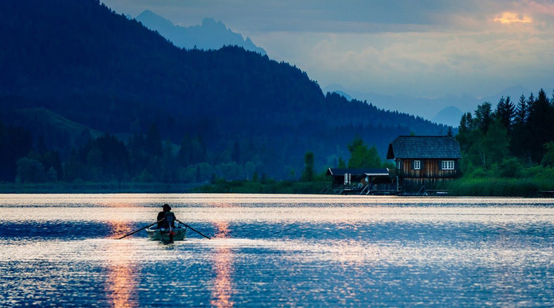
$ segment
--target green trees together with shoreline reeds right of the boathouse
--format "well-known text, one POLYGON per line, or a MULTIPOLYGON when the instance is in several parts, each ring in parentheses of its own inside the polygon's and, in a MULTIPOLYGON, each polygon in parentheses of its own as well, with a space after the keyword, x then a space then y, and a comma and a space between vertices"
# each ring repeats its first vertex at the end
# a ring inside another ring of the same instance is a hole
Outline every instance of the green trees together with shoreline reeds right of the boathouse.
POLYGON ((463 178, 450 187, 463 195, 535 195, 554 190, 554 92, 543 89, 494 108, 483 102, 461 118, 456 139, 463 178))

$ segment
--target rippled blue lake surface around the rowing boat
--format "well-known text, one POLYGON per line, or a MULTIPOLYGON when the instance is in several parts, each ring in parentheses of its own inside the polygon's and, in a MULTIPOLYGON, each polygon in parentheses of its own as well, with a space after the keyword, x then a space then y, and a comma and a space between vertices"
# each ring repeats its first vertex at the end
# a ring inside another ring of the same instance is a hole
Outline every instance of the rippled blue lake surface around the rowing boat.
POLYGON ((0 194, 0 307, 554 307, 554 199, 0 194), (161 204, 213 239, 161 244, 161 204))

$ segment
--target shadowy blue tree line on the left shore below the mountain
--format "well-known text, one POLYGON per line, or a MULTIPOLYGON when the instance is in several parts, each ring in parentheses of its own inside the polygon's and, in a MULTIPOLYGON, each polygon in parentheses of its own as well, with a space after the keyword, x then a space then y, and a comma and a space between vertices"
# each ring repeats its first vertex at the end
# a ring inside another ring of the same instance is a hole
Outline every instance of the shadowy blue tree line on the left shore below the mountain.
MULTIPOLYGON (((162 141, 156 125, 146 134, 135 134, 127 142, 111 134, 88 141, 67 155, 33 143, 22 127, 0 123, 0 181, 44 182, 128 182, 200 183, 217 178, 249 179, 262 174, 256 160, 242 161, 238 143, 208 163, 208 153, 198 136, 185 136, 179 147, 162 141)), ((265 174, 264 174, 265 176, 265 174)))

